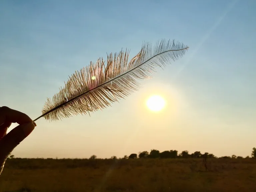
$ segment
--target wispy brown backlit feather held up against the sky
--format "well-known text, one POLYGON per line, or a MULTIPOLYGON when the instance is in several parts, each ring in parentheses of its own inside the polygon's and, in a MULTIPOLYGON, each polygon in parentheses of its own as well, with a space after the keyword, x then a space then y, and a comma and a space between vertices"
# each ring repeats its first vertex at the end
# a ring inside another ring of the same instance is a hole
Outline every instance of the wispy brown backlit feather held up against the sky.
POLYGON ((136 80, 151 78, 156 68, 182 57, 188 46, 174 40, 143 43, 140 52, 128 63, 129 51, 107 55, 96 63, 75 71, 65 86, 44 104, 41 117, 54 121, 102 110, 140 88, 136 80))

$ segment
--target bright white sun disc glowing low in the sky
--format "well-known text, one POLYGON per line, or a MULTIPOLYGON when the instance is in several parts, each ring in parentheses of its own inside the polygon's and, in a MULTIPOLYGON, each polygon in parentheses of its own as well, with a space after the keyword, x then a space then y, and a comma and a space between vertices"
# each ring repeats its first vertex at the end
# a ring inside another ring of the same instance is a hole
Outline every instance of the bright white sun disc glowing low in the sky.
POLYGON ((148 98, 146 105, 149 108, 149 110, 158 112, 165 107, 165 100, 163 97, 159 95, 152 95, 148 98))

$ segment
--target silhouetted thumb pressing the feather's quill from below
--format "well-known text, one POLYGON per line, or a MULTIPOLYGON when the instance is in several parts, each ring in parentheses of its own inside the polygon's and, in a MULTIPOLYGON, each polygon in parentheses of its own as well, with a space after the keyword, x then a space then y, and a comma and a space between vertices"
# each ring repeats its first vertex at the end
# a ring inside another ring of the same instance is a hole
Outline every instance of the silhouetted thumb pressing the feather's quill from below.
POLYGON ((0 161, 5 161, 13 149, 20 144, 35 128, 30 123, 21 124, 12 129, 4 138, 0 140, 0 161))

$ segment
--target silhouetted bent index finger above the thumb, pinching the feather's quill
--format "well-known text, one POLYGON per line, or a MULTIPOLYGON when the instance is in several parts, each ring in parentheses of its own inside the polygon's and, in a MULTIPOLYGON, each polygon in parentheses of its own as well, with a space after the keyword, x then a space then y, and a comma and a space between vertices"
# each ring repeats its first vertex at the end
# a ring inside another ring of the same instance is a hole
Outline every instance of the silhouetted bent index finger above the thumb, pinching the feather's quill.
MULTIPOLYGON (((25 113, 3 106, 0 107, 0 125, 4 122, 23 124, 32 122, 32 119, 25 113)), ((34 125, 36 126, 35 123, 34 125)))

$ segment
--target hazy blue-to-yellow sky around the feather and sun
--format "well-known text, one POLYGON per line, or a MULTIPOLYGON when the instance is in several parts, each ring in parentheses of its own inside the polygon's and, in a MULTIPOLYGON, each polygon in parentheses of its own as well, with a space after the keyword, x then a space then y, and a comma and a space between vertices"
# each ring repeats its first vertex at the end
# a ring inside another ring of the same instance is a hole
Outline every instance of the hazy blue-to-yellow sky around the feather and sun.
MULTIPOLYGON (((75 70, 144 41, 190 48, 142 88, 89 115, 49 122, 13 151, 21 158, 123 157, 157 149, 251 155, 256 147, 256 1, 0 2, 0 106, 41 115, 75 70), (153 113, 151 95, 166 107, 153 113)), ((17 126, 13 124, 10 130, 17 126)))

